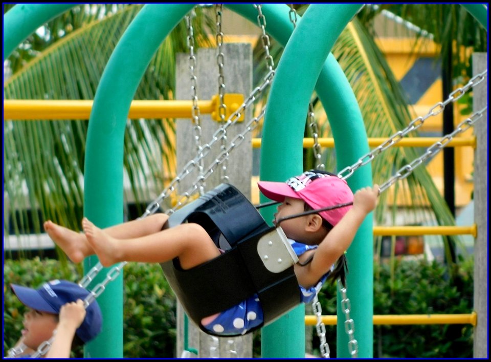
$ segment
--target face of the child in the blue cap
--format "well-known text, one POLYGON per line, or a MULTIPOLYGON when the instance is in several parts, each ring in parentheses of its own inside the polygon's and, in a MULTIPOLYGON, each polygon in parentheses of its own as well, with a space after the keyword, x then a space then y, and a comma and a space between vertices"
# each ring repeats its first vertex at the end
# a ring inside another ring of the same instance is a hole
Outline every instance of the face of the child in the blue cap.
POLYGON ((24 314, 23 343, 27 347, 37 350, 41 343, 52 337, 57 325, 57 314, 29 309, 24 314))

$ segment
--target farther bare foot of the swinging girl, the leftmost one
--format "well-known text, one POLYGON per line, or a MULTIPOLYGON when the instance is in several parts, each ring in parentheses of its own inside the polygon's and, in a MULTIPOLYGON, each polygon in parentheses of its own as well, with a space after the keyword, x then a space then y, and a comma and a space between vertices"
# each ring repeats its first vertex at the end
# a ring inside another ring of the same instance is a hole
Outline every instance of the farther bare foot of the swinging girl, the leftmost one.
POLYGON ((55 224, 51 220, 44 223, 44 230, 74 263, 80 263, 88 255, 94 254, 82 233, 55 224))

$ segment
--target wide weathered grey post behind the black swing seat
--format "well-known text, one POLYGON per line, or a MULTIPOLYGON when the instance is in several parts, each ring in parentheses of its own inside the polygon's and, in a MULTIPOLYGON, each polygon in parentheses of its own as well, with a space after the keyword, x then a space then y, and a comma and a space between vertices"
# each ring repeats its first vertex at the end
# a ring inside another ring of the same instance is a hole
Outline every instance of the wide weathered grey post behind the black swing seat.
MULTIPOLYGON (((224 83, 225 93, 241 93, 245 99, 252 91, 252 48, 250 44, 224 44, 224 83)), ((199 49, 196 54, 197 97, 199 100, 211 99, 218 94, 218 65, 217 49, 199 49)), ((176 60, 176 99, 189 100, 192 98, 191 71, 189 69, 189 54, 177 54, 176 60)), ((245 112, 245 120, 227 128, 227 146, 238 133, 244 132, 244 125, 252 118, 252 109, 245 112)), ((176 154, 177 173, 180 173, 187 162, 197 156, 195 144, 194 125, 190 119, 176 120, 176 154)), ((202 127, 201 143, 209 143, 220 124, 211 119, 210 115, 201 115, 202 127)), ((226 175, 229 183, 237 187, 246 197, 251 197, 252 176, 252 135, 247 134, 240 147, 234 148, 230 154, 226 175)), ((204 162, 206 170, 221 153, 221 142, 212 147, 204 162)), ((221 166, 217 166, 214 173, 206 180, 205 191, 219 185, 221 180, 221 166)), ((178 191, 184 193, 196 181, 199 173, 197 168, 181 182, 178 191)), ((184 347, 184 313, 178 307, 177 325, 177 357, 181 356, 184 347)), ((189 321, 188 347, 198 350, 200 358, 248 358, 252 357, 252 334, 236 338, 218 338, 218 355, 211 336, 203 333, 189 321), (232 352, 235 351, 236 353, 232 352)))

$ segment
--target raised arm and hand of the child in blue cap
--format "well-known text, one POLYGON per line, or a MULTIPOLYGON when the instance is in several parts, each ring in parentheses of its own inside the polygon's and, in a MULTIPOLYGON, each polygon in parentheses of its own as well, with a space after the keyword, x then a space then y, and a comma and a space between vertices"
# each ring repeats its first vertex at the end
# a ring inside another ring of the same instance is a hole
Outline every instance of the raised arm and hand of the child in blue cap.
POLYGON ((80 299, 61 307, 55 339, 46 358, 70 358, 75 331, 80 327, 84 318, 85 307, 80 299))

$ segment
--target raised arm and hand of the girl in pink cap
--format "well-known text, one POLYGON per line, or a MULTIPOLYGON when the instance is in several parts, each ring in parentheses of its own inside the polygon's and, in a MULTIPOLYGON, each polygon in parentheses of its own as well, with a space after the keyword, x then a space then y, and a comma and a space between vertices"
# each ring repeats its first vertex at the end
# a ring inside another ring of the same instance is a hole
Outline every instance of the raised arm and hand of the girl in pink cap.
POLYGON ((302 267, 299 282, 304 287, 316 284, 327 273, 341 255, 348 249, 365 217, 375 208, 378 185, 361 188, 354 194, 353 207, 329 231, 315 251, 312 262, 302 267))

